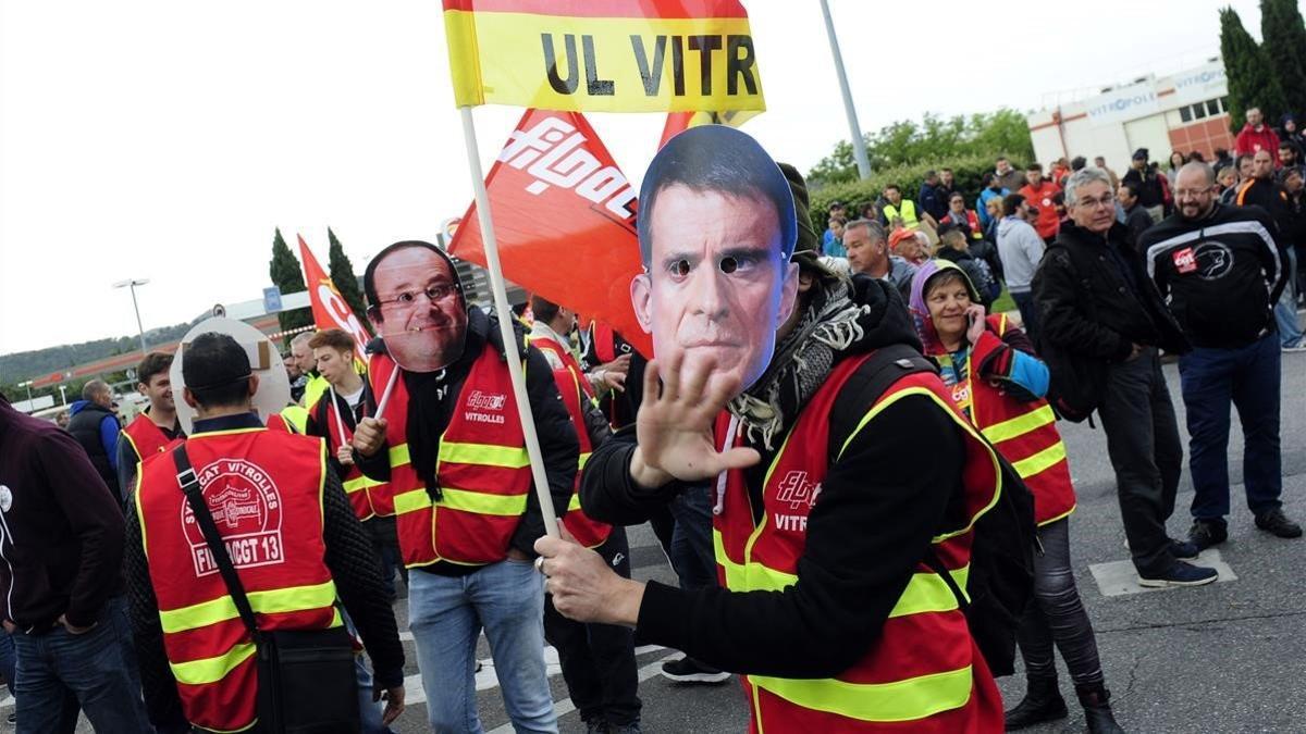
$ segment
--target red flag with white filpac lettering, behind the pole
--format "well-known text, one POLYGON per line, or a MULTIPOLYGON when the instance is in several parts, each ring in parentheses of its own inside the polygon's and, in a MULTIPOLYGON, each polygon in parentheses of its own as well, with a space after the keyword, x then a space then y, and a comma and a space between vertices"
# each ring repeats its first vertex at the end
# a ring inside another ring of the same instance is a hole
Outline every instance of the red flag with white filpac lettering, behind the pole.
MULTIPOLYGON (((643 354, 649 336, 631 306, 643 266, 636 191, 579 112, 526 110, 486 176, 504 278, 611 325, 643 354)), ((486 264, 475 202, 449 253, 486 264)))

